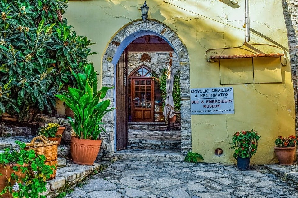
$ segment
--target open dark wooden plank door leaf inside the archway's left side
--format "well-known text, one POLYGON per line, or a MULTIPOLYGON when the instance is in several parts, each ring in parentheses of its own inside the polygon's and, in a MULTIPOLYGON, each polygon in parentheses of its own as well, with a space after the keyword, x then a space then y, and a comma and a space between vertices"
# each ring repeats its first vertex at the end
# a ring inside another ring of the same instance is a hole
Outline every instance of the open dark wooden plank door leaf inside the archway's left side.
POLYGON ((122 53, 116 66, 116 149, 126 149, 127 134, 127 49, 122 53))

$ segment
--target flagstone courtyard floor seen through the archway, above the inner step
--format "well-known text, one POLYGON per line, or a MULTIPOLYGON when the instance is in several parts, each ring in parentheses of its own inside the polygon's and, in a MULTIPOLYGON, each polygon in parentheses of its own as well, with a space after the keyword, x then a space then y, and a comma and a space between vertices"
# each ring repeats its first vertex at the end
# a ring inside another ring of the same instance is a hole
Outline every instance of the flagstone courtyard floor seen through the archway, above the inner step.
POLYGON ((181 131, 145 131, 140 129, 129 129, 129 139, 142 140, 179 140, 181 141, 181 131))

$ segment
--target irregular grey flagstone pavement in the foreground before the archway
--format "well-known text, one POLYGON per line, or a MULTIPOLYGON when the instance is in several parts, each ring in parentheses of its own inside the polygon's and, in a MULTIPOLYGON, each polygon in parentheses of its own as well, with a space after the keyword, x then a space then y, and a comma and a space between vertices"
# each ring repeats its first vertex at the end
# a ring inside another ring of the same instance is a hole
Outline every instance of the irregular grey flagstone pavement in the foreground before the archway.
POLYGON ((298 190, 269 173, 184 162, 116 161, 68 198, 297 198, 298 190))

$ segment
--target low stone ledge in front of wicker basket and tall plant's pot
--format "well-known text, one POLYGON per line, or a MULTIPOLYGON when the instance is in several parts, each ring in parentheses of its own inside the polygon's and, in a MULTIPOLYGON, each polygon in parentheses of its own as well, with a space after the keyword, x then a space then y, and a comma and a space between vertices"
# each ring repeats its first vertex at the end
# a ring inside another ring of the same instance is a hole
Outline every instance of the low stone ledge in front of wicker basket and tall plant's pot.
POLYGON ((46 195, 47 198, 53 198, 58 196, 60 192, 74 189, 78 183, 106 166, 107 162, 94 163, 93 165, 67 163, 66 166, 57 169, 55 179, 47 181, 47 191, 43 192, 42 195, 46 195))

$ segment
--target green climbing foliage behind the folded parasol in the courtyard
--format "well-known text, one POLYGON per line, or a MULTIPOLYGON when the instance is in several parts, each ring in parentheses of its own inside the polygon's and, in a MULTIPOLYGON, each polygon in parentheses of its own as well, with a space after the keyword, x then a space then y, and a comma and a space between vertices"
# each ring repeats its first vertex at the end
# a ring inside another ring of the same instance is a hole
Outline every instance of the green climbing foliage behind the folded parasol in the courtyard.
MULTIPOLYGON (((167 96, 167 69, 161 70, 162 75, 157 78, 153 77, 153 80, 159 84, 160 94, 163 100, 162 106, 165 106, 165 97, 167 96)), ((174 86, 173 86, 173 100, 175 111, 180 111, 180 74, 179 71, 174 75, 174 86)))

